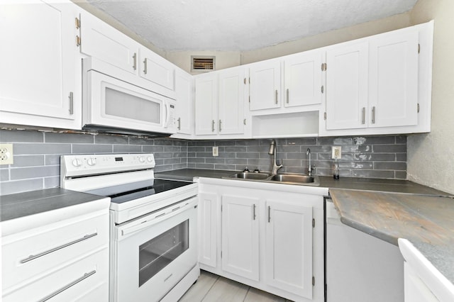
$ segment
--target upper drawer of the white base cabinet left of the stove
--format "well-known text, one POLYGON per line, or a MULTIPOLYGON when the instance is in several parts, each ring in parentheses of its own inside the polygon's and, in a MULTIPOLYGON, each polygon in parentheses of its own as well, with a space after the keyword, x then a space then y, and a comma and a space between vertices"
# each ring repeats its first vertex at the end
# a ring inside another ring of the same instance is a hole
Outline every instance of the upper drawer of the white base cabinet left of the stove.
POLYGON ((2 237, 3 288, 9 289, 103 246, 109 246, 107 210, 2 237))

